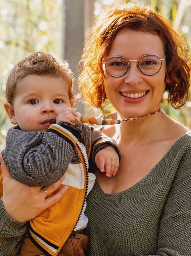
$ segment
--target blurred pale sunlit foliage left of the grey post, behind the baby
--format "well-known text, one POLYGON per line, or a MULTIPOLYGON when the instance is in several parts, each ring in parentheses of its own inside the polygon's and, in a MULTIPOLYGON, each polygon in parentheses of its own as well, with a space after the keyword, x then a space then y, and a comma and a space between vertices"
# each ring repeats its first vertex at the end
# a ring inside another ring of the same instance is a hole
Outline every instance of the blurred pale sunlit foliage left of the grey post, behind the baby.
POLYGON ((3 103, 13 65, 34 51, 62 52, 62 0, 0 1, 0 151, 11 126, 3 103))

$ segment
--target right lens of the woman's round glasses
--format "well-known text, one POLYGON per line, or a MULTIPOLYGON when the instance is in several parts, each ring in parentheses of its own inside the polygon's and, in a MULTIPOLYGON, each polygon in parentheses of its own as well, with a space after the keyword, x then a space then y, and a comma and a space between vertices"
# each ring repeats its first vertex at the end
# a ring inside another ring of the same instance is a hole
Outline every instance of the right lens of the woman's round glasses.
POLYGON ((139 68, 145 75, 155 75, 161 68, 161 60, 157 55, 145 55, 139 59, 139 68))

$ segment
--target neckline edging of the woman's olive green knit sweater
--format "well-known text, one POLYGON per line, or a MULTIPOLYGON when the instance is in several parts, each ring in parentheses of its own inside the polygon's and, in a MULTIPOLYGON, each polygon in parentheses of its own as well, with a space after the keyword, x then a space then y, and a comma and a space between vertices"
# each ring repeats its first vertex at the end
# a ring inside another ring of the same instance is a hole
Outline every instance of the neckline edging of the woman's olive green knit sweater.
POLYGON ((187 131, 187 132, 186 132, 185 134, 183 134, 179 139, 177 139, 177 140, 175 141, 175 143, 172 145, 172 147, 170 147, 170 149, 167 151, 167 153, 159 160, 159 162, 158 162, 144 177, 142 177, 141 180, 139 180, 138 182, 136 182, 134 185, 132 185, 131 187, 127 188, 126 190, 123 190, 123 191, 120 191, 120 192, 117 192, 117 193, 105 193, 105 192, 102 190, 102 188, 100 187, 97 178, 96 178, 96 180, 95 180, 95 186, 97 187, 97 189, 99 190, 99 192, 100 192, 101 194, 104 194, 104 195, 106 195, 106 196, 117 196, 117 195, 120 195, 120 194, 124 194, 124 193, 127 192, 127 191, 133 190, 134 187, 138 186, 139 183, 141 183, 142 181, 144 181, 148 176, 151 175, 152 172, 154 172, 154 170, 163 162, 163 160, 164 160, 165 158, 167 158, 169 154, 172 153, 172 151, 173 151, 173 149, 176 147, 176 145, 177 145, 178 143, 180 143, 180 141, 182 141, 185 137, 187 137, 187 135, 189 135, 190 138, 191 138, 191 130, 187 131))

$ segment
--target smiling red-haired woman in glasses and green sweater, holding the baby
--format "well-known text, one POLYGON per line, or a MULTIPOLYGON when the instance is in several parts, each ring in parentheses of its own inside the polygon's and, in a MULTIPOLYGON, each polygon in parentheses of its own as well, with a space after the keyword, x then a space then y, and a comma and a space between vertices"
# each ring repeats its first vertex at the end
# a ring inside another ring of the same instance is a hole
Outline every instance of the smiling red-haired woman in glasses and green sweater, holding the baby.
POLYGON ((160 15, 132 5, 110 8, 87 38, 78 80, 84 98, 101 109, 108 98, 119 120, 143 116, 102 128, 117 141, 122 158, 115 177, 95 170, 86 208, 89 255, 189 256, 191 132, 159 109, 165 91, 175 108, 188 100, 190 67, 182 41, 160 15))

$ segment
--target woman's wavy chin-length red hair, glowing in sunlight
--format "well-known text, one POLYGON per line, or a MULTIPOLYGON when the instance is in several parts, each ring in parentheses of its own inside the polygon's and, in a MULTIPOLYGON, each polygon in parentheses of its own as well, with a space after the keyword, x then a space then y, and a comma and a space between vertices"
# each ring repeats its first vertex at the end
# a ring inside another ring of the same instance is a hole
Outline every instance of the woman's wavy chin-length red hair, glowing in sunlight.
POLYGON ((168 101, 179 109, 189 100, 190 62, 189 52, 181 36, 170 22, 148 6, 113 6, 94 19, 86 32, 86 42, 81 57, 83 67, 78 78, 79 91, 84 100, 103 109, 106 99, 102 60, 122 28, 156 34, 163 42, 167 71, 165 76, 168 101), (185 57, 187 60, 185 60, 185 57))

